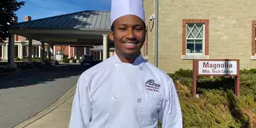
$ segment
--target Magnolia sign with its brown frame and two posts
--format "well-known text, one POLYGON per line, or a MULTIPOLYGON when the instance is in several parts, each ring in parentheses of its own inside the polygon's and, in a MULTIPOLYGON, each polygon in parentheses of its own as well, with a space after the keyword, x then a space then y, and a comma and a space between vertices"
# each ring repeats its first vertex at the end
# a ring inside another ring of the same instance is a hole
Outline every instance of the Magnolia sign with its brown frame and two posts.
POLYGON ((193 97, 197 92, 197 76, 235 77, 235 94, 240 96, 239 59, 195 59, 193 61, 193 97))

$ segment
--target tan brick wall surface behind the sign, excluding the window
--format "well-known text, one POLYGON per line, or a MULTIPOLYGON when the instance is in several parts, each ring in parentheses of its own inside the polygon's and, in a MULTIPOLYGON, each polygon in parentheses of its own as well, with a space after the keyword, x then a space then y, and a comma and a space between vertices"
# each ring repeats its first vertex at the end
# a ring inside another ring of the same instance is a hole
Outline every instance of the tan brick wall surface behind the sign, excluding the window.
MULTIPOLYGON (((159 1, 159 68, 174 72, 192 69, 191 60, 182 60, 182 20, 207 19, 210 59, 240 59, 241 69, 256 68, 252 55, 252 20, 256 2, 198 0, 159 1)), ((144 1, 146 17, 154 13, 154 1, 144 1), (152 11, 153 10, 153 11, 152 11)), ((154 30, 149 32, 148 59, 154 62, 154 30)))

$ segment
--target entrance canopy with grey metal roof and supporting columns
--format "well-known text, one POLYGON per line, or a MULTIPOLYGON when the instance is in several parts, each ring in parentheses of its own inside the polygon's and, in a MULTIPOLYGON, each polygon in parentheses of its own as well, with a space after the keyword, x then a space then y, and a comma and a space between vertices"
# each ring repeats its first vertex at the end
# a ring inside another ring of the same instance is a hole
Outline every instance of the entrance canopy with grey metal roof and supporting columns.
MULTIPOLYGON (((16 23, 9 29, 11 35, 26 37, 31 44, 34 39, 49 45, 103 45, 103 60, 108 57, 109 44, 113 45, 113 42, 108 40, 109 31, 110 12, 93 10, 16 23)), ((12 60, 14 56, 13 40, 14 37, 10 36, 8 60, 12 60)), ((30 58, 31 55, 29 60, 30 58)))

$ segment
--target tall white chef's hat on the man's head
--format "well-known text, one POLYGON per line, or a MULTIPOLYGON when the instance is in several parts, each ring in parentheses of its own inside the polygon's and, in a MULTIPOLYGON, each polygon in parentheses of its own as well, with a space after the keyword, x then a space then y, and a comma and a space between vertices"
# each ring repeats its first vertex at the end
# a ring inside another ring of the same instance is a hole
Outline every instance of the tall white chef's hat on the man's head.
POLYGON ((143 0, 112 0, 110 20, 113 22, 124 15, 136 15, 145 22, 143 0))

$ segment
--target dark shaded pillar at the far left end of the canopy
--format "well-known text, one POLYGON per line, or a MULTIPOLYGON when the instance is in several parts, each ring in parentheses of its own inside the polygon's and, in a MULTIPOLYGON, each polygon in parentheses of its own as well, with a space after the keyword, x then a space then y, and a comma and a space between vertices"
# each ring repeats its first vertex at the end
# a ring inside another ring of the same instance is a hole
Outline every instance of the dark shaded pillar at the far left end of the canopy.
POLYGON ((14 61, 15 56, 15 35, 10 34, 9 41, 8 41, 9 47, 8 47, 8 64, 9 67, 17 68, 17 65, 14 61))

